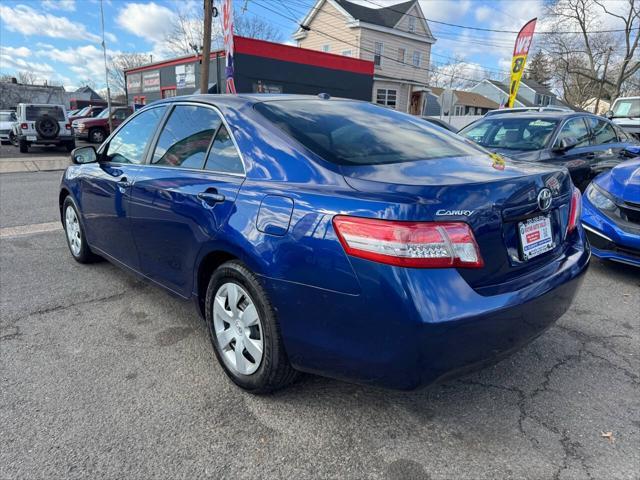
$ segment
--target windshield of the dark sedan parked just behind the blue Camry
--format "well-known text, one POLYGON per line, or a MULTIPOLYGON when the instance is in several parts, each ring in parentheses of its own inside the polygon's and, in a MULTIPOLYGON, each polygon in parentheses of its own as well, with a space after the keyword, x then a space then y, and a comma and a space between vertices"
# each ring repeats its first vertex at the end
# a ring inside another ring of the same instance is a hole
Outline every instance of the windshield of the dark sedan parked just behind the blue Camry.
POLYGON ((494 117, 463 128, 459 134, 489 149, 540 150, 549 143, 558 120, 541 117, 494 117))

